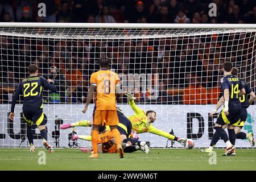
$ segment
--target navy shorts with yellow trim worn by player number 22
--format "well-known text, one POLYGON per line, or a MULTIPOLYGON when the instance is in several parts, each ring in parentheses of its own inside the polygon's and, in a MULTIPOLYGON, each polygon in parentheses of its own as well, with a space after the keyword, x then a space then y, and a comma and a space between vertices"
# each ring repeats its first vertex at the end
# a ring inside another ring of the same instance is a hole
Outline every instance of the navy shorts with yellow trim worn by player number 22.
POLYGON ((25 121, 32 125, 32 123, 36 123, 36 125, 46 125, 46 119, 44 119, 43 109, 32 106, 23 106, 23 118, 25 121))

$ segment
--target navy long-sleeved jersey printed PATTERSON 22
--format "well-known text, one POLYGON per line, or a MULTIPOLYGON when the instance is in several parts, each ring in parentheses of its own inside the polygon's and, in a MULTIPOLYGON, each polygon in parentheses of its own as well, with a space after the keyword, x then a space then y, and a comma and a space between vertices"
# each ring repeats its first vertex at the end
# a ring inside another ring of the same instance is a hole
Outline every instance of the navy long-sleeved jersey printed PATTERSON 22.
POLYGON ((23 94, 23 106, 41 107, 43 106, 43 88, 56 92, 56 86, 53 82, 49 83, 41 76, 31 76, 20 82, 11 102, 11 112, 14 112, 16 100, 20 94, 23 94))

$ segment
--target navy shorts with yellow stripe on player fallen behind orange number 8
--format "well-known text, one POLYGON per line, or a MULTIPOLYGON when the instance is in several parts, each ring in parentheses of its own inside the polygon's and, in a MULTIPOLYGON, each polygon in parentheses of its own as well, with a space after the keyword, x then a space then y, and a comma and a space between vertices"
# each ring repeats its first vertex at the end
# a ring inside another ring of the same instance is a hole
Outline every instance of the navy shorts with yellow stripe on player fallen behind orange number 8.
POLYGON ((119 124, 117 125, 117 129, 120 132, 121 135, 126 135, 126 137, 129 137, 131 134, 131 128, 133 127, 131 125, 131 122, 128 118, 125 117, 125 115, 119 114, 118 115, 119 124))

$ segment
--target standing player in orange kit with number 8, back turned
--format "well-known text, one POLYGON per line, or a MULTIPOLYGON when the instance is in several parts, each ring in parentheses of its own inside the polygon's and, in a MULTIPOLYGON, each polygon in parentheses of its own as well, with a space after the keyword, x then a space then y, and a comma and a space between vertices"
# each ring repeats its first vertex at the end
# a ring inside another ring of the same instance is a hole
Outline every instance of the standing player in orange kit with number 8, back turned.
POLYGON ((90 89, 86 99, 83 113, 88 109, 88 105, 93 98, 93 93, 97 88, 97 100, 93 110, 93 126, 92 126, 92 146, 93 154, 89 158, 98 158, 98 131, 100 126, 110 126, 112 135, 117 143, 119 158, 124 157, 123 148, 121 146, 121 135, 117 129, 119 123, 117 116, 117 107, 115 103, 115 90, 117 94, 121 94, 119 78, 117 73, 109 70, 108 58, 100 59, 100 71, 92 73, 90 76, 90 89))

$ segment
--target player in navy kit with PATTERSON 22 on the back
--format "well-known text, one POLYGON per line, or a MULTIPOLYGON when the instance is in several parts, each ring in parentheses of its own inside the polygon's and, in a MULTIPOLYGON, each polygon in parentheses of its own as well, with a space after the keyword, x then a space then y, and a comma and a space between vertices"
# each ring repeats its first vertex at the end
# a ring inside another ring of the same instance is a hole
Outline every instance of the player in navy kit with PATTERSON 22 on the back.
POLYGON ((46 132, 46 120, 44 119, 43 113, 43 88, 56 92, 56 86, 51 79, 46 80, 45 78, 38 76, 38 67, 35 64, 31 64, 27 68, 30 77, 25 78, 16 89, 16 92, 11 102, 11 113, 9 118, 14 118, 14 107, 16 100, 19 95, 23 94, 23 117, 27 122, 27 138, 30 143, 30 151, 35 152, 32 123, 36 123, 43 139, 43 145, 47 148, 50 153, 53 153, 53 149, 47 142, 46 132))

